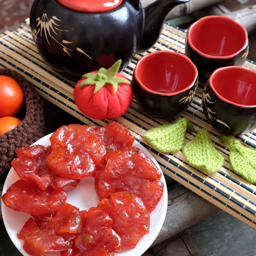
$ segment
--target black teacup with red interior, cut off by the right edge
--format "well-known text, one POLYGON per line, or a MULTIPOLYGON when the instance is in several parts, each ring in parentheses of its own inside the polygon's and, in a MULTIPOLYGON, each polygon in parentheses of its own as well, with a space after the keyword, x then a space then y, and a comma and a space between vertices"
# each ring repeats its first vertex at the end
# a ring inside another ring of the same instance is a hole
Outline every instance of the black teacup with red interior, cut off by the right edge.
POLYGON ((204 87, 204 114, 217 131, 240 135, 256 129, 256 72, 244 67, 215 70, 204 87))

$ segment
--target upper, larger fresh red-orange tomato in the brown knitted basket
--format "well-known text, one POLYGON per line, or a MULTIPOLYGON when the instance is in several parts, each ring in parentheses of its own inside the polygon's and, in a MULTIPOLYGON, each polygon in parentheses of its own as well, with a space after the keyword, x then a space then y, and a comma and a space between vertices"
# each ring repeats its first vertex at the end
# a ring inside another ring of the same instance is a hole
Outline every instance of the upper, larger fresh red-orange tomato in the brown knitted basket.
POLYGON ((0 117, 15 116, 23 102, 24 95, 19 84, 9 76, 0 76, 0 117))

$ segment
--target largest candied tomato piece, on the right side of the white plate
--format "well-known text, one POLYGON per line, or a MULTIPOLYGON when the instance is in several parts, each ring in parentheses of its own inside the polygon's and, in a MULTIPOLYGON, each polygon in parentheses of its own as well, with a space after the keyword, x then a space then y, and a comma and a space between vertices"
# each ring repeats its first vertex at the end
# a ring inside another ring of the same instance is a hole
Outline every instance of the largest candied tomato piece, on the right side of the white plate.
POLYGON ((128 191, 142 198, 148 212, 155 209, 163 195, 161 172, 144 154, 131 148, 106 154, 105 169, 96 171, 95 190, 108 198, 115 192, 128 191))

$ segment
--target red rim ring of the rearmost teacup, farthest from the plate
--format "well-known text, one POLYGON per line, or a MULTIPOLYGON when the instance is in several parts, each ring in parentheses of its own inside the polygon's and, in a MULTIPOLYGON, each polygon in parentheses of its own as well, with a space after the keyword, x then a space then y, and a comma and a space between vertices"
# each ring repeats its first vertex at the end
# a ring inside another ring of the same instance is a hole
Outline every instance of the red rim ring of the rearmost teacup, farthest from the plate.
POLYGON ((248 45, 248 34, 247 34, 247 30, 244 28, 244 26, 242 26, 241 24, 239 24, 238 22, 236 22, 235 20, 233 20, 230 17, 226 17, 226 16, 217 16, 217 15, 209 15, 207 17, 203 17, 201 19, 199 19, 198 21, 194 22, 192 25, 189 26, 188 32, 187 32, 187 36, 188 36, 188 43, 189 46, 195 50, 196 52, 198 52, 200 55, 206 57, 206 58, 212 58, 212 59, 228 59, 228 58, 233 58, 236 55, 238 55, 240 52, 242 52, 248 45), (191 38, 190 38, 190 34, 191 34, 191 30, 194 26, 196 26, 198 23, 200 23, 203 20, 209 20, 209 19, 224 19, 224 20, 230 20, 233 23, 236 23, 237 26, 240 26, 240 28, 243 30, 244 32, 244 36, 246 38, 245 43, 243 45, 243 47, 241 49, 239 49, 239 51, 234 52, 233 54, 227 55, 227 56, 214 56, 214 55, 208 55, 204 52, 201 52, 200 50, 198 50, 191 42, 191 38))

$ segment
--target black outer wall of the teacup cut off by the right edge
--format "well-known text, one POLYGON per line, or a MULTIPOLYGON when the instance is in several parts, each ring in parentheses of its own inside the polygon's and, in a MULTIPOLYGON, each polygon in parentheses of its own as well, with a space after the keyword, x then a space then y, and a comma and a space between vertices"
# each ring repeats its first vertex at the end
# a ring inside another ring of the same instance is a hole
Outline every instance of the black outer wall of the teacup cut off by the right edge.
POLYGON ((223 134, 236 136, 256 129, 256 108, 243 108, 224 101, 212 90, 209 81, 204 88, 202 106, 210 125, 223 134))

